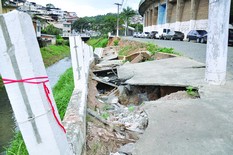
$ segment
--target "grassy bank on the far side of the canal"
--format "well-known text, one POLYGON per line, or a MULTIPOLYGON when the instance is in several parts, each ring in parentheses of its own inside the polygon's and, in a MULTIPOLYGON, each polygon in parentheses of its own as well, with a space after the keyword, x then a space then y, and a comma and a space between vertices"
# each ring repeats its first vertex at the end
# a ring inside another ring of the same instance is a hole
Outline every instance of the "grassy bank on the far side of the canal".
POLYGON ((45 67, 48 67, 57 61, 70 56, 69 46, 50 45, 40 49, 45 67))

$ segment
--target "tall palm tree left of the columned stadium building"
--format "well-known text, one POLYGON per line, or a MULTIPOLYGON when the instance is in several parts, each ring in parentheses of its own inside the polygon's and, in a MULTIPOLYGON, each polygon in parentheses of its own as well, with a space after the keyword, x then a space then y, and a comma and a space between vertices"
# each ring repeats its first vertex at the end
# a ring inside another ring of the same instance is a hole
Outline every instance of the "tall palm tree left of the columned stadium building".
POLYGON ((127 32, 128 32, 129 19, 133 17, 134 15, 136 15, 136 12, 130 7, 124 8, 123 11, 121 12, 121 17, 124 19, 125 26, 126 26, 125 36, 127 35, 127 32))

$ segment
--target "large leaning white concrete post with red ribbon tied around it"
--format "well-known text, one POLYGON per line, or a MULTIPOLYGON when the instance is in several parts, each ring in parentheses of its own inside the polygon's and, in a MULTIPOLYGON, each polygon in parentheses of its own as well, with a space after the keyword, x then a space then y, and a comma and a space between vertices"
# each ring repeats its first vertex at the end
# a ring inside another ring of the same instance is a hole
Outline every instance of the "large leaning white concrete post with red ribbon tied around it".
MULTIPOLYGON (((0 15, 0 43, 3 78, 21 80, 47 76, 29 15, 17 11, 0 15)), ((60 121, 50 85, 48 82, 46 85, 60 121)), ((43 84, 15 82, 5 86, 29 154, 72 154, 66 134, 52 114, 43 84)))

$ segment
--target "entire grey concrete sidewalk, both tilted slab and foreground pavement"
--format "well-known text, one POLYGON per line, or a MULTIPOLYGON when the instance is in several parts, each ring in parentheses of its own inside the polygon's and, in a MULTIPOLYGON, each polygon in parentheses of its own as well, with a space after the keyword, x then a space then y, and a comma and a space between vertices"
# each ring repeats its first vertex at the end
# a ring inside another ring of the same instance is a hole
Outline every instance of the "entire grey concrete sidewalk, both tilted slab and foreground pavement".
POLYGON ((199 99, 146 102, 149 125, 133 154, 233 154, 233 76, 224 86, 211 86, 204 74, 204 64, 183 57, 118 68, 127 84, 193 86, 200 94, 199 99))

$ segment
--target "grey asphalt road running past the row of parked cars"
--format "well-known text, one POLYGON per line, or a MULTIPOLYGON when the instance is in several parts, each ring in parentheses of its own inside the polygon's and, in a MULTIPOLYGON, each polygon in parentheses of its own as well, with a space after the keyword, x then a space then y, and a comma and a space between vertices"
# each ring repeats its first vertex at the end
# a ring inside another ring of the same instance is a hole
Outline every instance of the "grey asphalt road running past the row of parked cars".
MULTIPOLYGON (((139 42, 151 42, 160 47, 174 48, 174 50, 185 57, 189 57, 196 61, 205 63, 206 61, 206 44, 187 42, 187 41, 171 41, 171 40, 158 40, 158 39, 144 39, 123 37, 123 39, 134 40, 139 42)), ((227 71, 233 73, 233 47, 228 47, 228 63, 227 71)))

